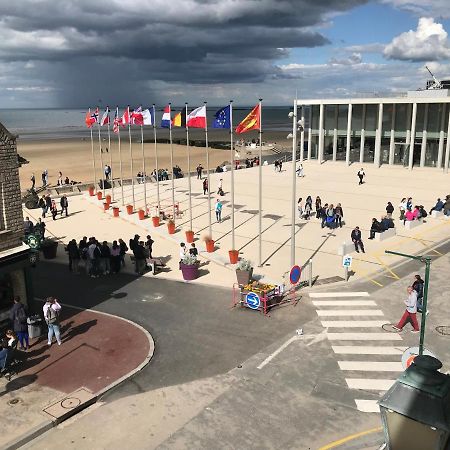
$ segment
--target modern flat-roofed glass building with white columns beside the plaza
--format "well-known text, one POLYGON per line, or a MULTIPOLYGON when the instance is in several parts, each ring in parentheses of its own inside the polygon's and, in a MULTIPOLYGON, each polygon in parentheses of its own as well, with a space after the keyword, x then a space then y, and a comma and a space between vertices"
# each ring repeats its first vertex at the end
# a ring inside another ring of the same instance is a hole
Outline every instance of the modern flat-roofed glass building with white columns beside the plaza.
POLYGON ((450 90, 399 97, 296 101, 302 159, 448 171, 450 90))

